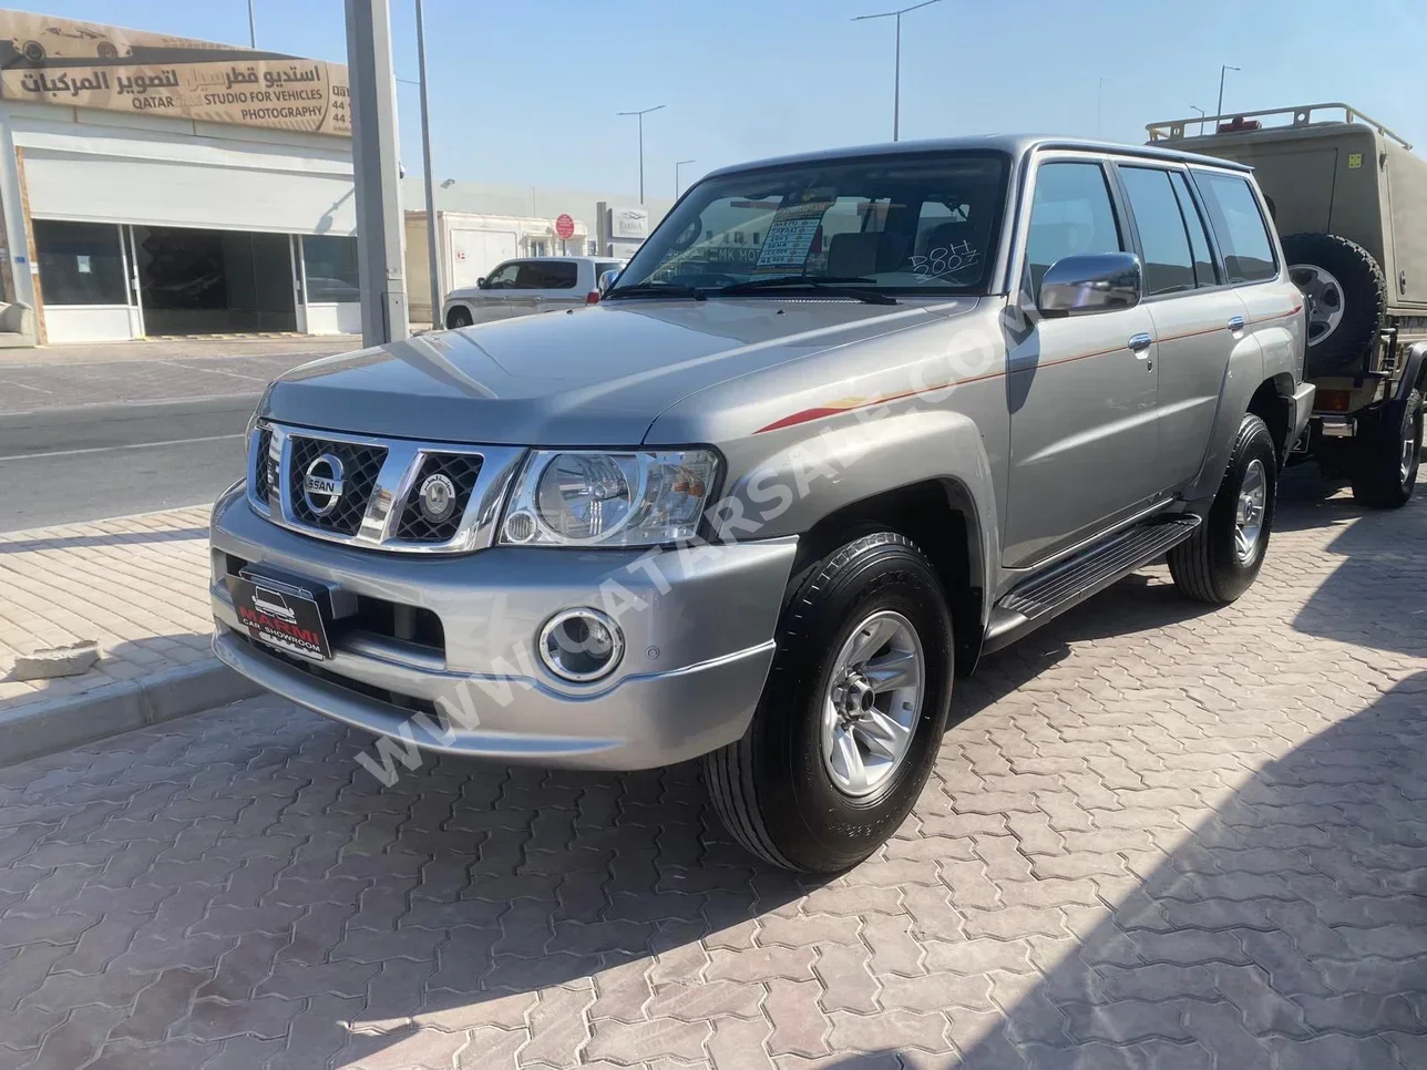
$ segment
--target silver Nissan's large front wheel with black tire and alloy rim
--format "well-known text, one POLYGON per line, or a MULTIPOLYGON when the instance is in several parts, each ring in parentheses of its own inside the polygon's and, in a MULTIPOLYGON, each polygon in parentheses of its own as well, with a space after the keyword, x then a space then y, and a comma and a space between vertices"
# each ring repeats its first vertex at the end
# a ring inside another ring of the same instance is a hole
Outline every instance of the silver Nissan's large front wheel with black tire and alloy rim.
POLYGON ((748 850, 836 873, 896 830, 932 772, 952 622, 932 564, 893 532, 855 538, 803 575, 748 732, 705 756, 704 770, 748 850))

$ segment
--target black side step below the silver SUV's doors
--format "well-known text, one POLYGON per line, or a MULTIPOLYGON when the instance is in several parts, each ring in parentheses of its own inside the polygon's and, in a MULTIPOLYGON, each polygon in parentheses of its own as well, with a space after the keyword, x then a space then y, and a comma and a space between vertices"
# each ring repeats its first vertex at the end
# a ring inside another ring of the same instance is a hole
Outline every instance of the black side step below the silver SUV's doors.
POLYGON ((1193 514, 1142 524, 1033 576, 992 606, 982 653, 1009 646, 1066 609, 1100 593, 1177 546, 1199 529, 1199 524, 1200 518, 1193 514))

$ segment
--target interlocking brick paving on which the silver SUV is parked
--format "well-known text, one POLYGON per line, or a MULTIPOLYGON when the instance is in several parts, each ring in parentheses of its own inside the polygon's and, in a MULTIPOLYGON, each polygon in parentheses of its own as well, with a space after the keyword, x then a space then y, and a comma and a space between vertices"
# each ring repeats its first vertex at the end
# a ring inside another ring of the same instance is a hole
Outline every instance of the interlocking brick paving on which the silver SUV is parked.
POLYGON ((0 1067, 1424 1067, 1427 495, 1310 477, 1236 605, 990 658, 833 880, 694 766, 382 788, 274 698, 0 769, 0 1067))

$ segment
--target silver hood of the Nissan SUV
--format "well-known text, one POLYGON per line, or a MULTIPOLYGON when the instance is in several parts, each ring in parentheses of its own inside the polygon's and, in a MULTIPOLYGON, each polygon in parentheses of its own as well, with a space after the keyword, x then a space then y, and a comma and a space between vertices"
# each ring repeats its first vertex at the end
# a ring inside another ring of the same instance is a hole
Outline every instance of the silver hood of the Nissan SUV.
POLYGON ((975 305, 611 301, 313 361, 274 381, 260 415, 450 442, 638 445, 695 391, 975 305))

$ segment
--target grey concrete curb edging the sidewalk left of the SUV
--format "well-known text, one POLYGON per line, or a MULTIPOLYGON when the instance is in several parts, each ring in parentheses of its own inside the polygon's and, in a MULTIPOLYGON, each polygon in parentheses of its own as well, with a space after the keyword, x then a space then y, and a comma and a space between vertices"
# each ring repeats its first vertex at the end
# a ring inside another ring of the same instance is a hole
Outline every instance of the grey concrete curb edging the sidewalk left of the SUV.
POLYGON ((0 768, 260 695, 217 658, 0 713, 0 768))

